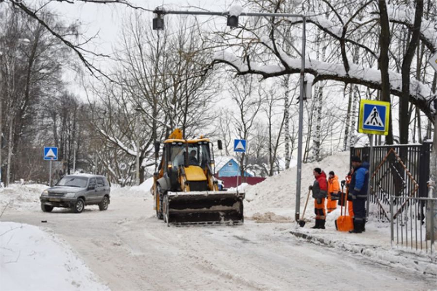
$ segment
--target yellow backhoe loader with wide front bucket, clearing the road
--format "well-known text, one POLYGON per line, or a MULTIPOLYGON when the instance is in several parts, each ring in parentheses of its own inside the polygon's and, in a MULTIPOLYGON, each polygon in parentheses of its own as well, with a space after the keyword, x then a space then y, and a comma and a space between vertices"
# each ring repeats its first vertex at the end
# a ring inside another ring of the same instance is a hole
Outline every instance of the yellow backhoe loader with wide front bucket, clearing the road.
MULTIPOLYGON (((221 141, 218 140, 221 149, 221 141)), ((203 136, 184 139, 175 129, 155 144, 161 155, 153 175, 154 208, 168 224, 242 224, 244 192, 219 191, 214 177, 213 144, 203 136)))

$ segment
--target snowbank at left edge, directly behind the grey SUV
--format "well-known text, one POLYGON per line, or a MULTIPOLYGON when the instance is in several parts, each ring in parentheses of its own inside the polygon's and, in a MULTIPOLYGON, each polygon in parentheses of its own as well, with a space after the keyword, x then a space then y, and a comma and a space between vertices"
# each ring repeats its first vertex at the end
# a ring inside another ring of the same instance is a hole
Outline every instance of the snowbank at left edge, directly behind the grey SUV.
POLYGON ((49 188, 41 184, 10 184, 7 188, 0 189, 0 213, 6 207, 18 211, 39 209, 39 196, 49 188))

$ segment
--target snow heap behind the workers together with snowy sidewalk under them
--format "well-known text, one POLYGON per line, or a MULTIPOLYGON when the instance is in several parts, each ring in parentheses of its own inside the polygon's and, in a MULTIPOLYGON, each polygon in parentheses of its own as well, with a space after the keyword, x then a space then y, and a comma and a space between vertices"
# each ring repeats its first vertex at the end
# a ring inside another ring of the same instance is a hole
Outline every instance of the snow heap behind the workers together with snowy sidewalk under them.
MULTIPOLYGON (((349 152, 328 156, 320 162, 302 165, 301 180, 301 217, 308 195, 308 186, 313 184, 313 169, 319 167, 325 173, 334 171, 339 181, 344 180, 349 169, 349 152)), ((296 205, 296 171, 290 168, 278 175, 268 177, 261 183, 245 188, 245 217, 258 223, 294 222, 296 205)), ((344 208, 343 208, 344 215, 344 208)), ((334 221, 340 216, 340 207, 326 217, 326 229, 311 229, 314 225, 314 199, 309 197, 303 228, 296 225, 297 235, 303 234, 314 242, 323 241, 330 247, 336 247, 353 253, 360 253, 376 262, 402 265, 404 268, 419 271, 422 274, 437 274, 437 255, 399 247, 391 248, 390 224, 378 222, 369 217, 366 232, 351 235, 336 231, 334 221)))

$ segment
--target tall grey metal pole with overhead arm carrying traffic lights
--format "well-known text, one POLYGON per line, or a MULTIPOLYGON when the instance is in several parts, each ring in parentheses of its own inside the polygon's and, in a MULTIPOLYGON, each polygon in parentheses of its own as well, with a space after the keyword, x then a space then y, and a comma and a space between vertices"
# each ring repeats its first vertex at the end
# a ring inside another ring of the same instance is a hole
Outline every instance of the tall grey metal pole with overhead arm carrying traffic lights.
MULTIPOLYGON (((238 27, 238 16, 251 16, 251 17, 299 17, 302 18, 302 51, 301 51, 301 72, 300 72, 300 94, 299 94, 299 133, 298 133, 298 164, 296 175, 296 222, 300 218, 300 201, 301 201, 301 178, 302 178, 302 139, 303 139, 303 91, 304 91, 304 73, 305 73, 305 22, 306 16, 302 14, 291 13, 244 13, 239 15, 232 15, 229 12, 209 12, 209 11, 174 11, 164 10, 162 8, 156 8, 153 13, 156 15, 153 18, 152 26, 154 30, 164 29, 164 19, 162 18, 166 14, 179 14, 179 15, 208 15, 208 16, 225 16, 228 17, 227 24, 230 27, 238 27)), ((275 27, 275 26, 273 26, 275 27)), ((279 31, 278 31, 279 32, 279 31)), ((281 33, 281 32, 279 32, 281 33)), ((288 40, 284 38, 287 42, 288 40)))

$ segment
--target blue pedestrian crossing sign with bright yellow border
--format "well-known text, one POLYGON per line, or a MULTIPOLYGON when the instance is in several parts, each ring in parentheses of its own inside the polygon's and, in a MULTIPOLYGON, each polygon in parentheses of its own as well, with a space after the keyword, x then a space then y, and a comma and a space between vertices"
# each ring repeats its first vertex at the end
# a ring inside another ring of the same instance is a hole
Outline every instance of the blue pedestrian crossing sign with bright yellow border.
POLYGON ((361 100, 358 132, 387 136, 389 113, 388 102, 361 100))

